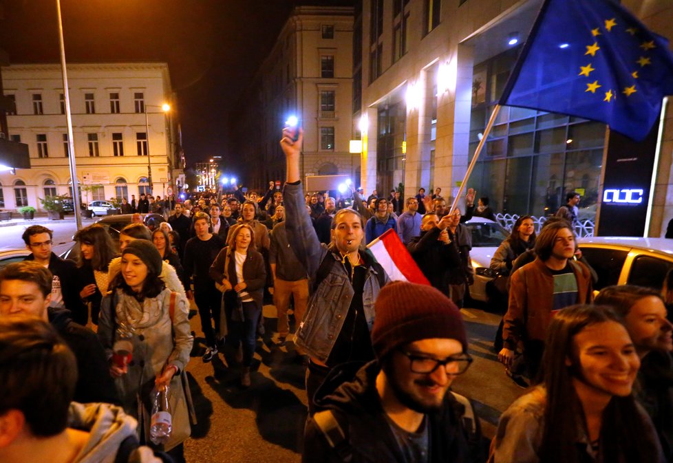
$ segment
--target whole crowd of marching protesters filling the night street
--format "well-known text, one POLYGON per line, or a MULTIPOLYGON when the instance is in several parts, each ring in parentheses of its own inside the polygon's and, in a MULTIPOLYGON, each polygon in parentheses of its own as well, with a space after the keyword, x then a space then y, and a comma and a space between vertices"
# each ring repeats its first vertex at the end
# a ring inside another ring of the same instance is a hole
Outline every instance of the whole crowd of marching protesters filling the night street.
POLYGON ((74 237, 76 263, 54 255, 48 228, 25 230, 32 254, 0 270, 0 461, 184 461, 190 301, 202 361, 231 349, 247 388, 271 297, 276 345, 294 341, 306 365, 304 462, 673 461, 673 325, 659 291, 613 286, 594 300, 572 224, 557 217, 536 234, 520 217, 491 268, 503 278, 496 352, 528 390, 489 443, 469 398, 450 390, 473 360, 464 222, 492 217, 488 198, 475 204, 468 189, 462 213, 439 188, 307 193, 302 136, 284 131, 282 190, 131 197, 122 207, 138 217, 119 246, 88 226, 74 237), (146 226, 150 212, 167 222, 146 226), (390 281, 366 247, 384 233, 429 285, 390 281), (165 387, 173 431, 156 444, 151 394, 165 387))

